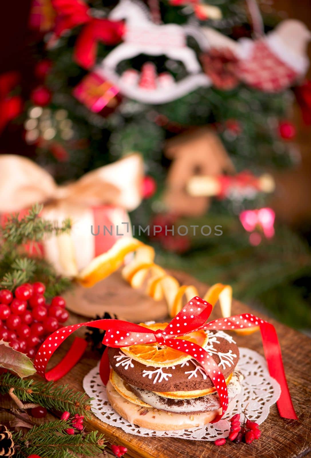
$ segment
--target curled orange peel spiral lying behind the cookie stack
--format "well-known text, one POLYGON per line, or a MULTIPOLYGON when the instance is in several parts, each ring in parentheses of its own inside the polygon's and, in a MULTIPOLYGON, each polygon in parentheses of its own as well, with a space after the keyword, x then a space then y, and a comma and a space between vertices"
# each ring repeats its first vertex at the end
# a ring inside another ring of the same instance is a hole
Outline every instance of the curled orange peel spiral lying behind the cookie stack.
MULTIPOLYGON (((94 258, 79 273, 76 280, 85 287, 92 287, 124 265, 125 257, 130 253, 135 254, 122 268, 122 277, 135 289, 141 288, 147 281, 147 295, 154 300, 164 299, 169 316, 176 316, 186 302, 199 295, 195 286, 180 285, 176 278, 155 264, 155 252, 151 246, 128 237, 120 238, 109 251, 94 258)), ((231 316, 231 286, 216 283, 207 290, 203 299, 213 306, 219 300, 222 316, 224 318, 231 316)), ((235 332, 251 334, 258 329, 259 327, 235 330, 235 332)))

